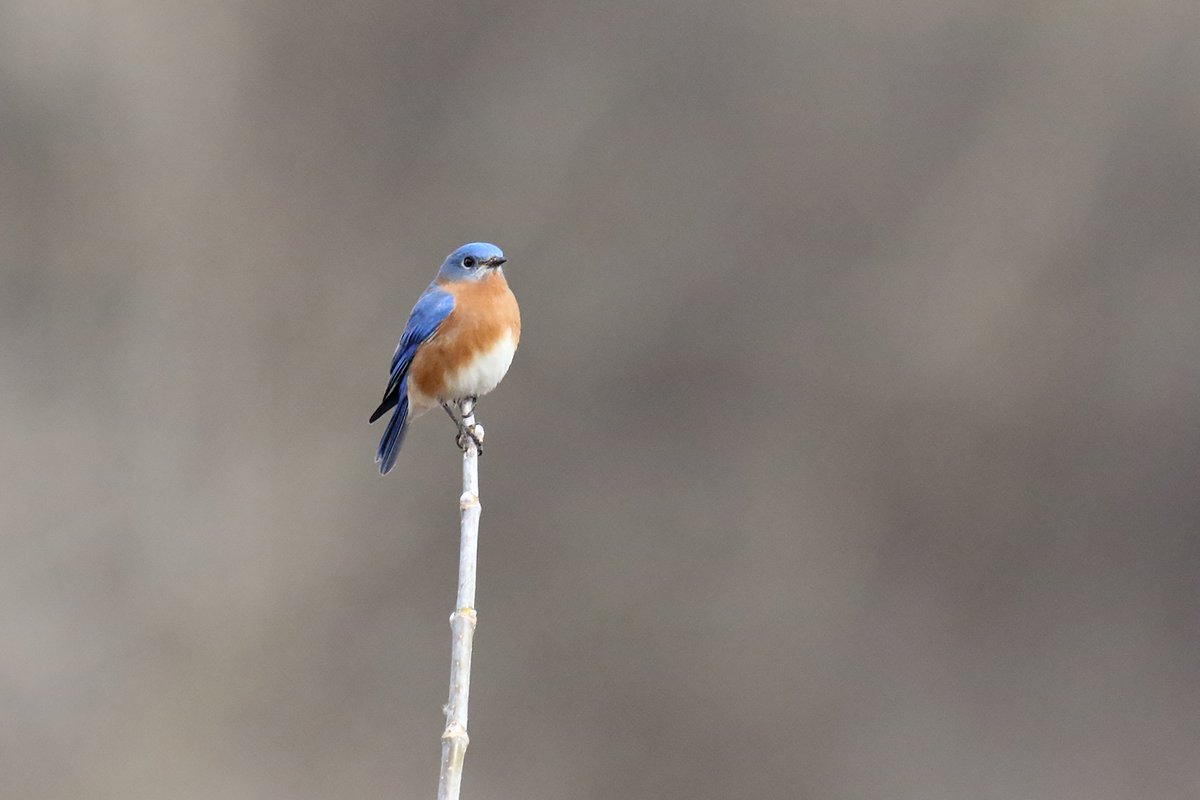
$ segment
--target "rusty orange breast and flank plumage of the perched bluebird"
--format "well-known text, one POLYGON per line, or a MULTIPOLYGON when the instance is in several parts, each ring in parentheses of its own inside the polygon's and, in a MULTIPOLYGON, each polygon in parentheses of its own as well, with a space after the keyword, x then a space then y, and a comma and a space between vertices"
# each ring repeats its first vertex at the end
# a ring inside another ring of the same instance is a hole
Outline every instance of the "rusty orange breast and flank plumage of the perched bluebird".
POLYGON ((437 335, 421 345, 408 373, 409 385, 440 397, 445 375, 469 363, 505 335, 521 338, 521 311, 499 271, 481 281, 438 282, 454 295, 454 309, 437 335))

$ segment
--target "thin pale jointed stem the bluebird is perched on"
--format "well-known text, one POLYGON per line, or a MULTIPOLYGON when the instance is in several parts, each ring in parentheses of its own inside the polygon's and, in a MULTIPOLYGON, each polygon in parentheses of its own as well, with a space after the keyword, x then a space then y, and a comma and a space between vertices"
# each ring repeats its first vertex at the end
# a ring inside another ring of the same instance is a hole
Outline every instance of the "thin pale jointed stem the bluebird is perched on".
MULTIPOLYGON (((475 403, 458 401, 467 431, 482 440, 484 426, 475 425, 475 403), (472 427, 474 426, 474 427, 472 427)), ((446 729, 442 734, 442 772, 438 800, 458 800, 462 762, 467 754, 467 704, 470 697, 470 645, 475 636, 475 563, 479 552, 479 451, 467 439, 462 453, 461 541, 458 546, 458 599, 450 614, 450 699, 446 702, 446 729)))

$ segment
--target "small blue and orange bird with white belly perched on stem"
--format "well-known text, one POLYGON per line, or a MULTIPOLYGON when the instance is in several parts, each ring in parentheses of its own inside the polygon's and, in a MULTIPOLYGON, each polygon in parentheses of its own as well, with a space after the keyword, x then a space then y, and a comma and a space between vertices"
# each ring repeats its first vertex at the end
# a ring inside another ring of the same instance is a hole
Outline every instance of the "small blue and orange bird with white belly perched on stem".
POLYGON ((458 425, 458 445, 482 452, 452 404, 474 403, 496 389, 516 354, 521 309, 500 269, 505 263, 496 245, 463 245, 446 257, 413 306, 391 356, 383 402, 370 420, 395 409, 376 450, 380 475, 396 464, 408 425, 437 405, 458 425))

